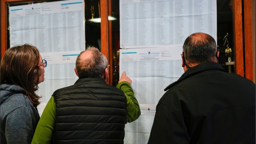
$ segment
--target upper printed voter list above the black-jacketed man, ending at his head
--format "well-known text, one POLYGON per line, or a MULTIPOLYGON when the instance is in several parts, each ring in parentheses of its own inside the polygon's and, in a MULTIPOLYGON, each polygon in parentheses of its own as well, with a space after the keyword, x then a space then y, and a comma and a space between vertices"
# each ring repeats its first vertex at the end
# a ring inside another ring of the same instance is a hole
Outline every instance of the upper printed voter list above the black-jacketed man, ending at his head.
POLYGON ((195 33, 217 40, 216 0, 120 0, 120 47, 183 44, 195 33))

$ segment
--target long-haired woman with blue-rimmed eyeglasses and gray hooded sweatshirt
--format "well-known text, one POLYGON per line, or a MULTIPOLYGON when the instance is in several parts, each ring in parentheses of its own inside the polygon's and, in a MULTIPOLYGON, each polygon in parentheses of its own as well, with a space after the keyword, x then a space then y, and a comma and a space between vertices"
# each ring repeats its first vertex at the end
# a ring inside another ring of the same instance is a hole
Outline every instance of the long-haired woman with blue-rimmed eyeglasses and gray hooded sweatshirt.
POLYGON ((9 48, 0 65, 0 143, 31 143, 40 119, 35 91, 44 81, 46 61, 30 44, 9 48))

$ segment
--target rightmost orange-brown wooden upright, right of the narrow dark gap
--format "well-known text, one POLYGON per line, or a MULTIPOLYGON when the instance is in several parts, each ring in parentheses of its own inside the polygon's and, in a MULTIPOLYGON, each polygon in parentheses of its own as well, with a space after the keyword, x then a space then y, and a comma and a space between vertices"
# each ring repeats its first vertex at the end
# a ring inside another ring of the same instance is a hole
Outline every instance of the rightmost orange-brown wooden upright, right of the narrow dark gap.
POLYGON ((245 77, 253 81, 252 63, 252 2, 244 1, 244 55, 245 77))

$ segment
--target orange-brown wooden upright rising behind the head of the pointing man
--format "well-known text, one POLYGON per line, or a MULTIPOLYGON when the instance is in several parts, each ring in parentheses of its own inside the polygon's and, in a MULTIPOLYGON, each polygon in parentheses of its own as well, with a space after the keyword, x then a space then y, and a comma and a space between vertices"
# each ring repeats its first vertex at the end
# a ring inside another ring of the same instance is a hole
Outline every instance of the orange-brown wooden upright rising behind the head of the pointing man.
MULTIPOLYGON (((108 1, 100 0, 100 33, 101 33, 101 52, 107 57, 109 62, 109 49, 108 49, 108 1)), ((112 76, 108 74, 108 84, 112 76)))

